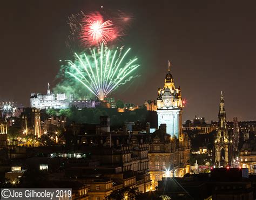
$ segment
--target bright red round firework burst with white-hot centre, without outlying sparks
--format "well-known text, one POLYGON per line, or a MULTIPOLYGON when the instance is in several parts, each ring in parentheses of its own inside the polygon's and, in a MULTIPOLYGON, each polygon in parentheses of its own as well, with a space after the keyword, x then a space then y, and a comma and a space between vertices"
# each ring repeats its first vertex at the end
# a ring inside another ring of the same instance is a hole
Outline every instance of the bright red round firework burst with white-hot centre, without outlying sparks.
POLYGON ((82 26, 82 42, 84 44, 97 45, 112 41, 117 37, 117 31, 113 27, 112 20, 104 21, 100 13, 85 16, 82 26))

